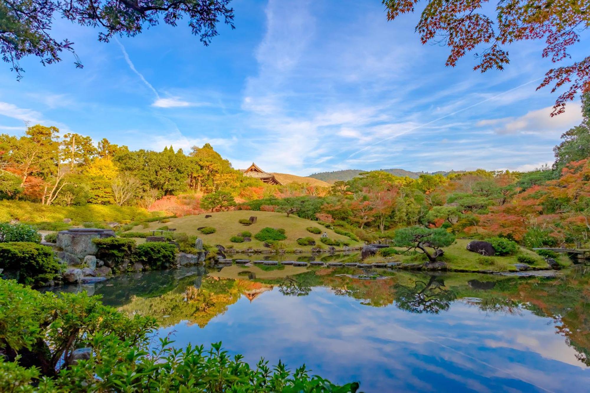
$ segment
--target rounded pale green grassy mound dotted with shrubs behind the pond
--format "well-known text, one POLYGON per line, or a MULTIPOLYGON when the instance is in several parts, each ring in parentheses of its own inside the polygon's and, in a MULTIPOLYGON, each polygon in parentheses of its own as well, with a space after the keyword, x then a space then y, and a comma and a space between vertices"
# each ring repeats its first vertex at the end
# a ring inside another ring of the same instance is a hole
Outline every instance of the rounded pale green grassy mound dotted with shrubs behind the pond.
POLYGON ((166 224, 158 222, 152 222, 149 227, 143 228, 142 225, 138 225, 133 228, 132 231, 137 232, 149 232, 156 230, 162 225, 168 226, 168 228, 176 228, 176 233, 186 233, 188 235, 196 235, 203 239, 205 244, 216 245, 221 244, 226 248, 233 246, 237 250, 245 250, 246 248, 264 248, 264 242, 258 241, 254 238, 264 227, 270 228, 283 228, 285 230, 286 240, 281 241, 281 248, 284 250, 295 250, 297 248, 301 250, 310 250, 312 246, 304 246, 297 244, 297 239, 301 237, 312 237, 316 240, 316 247, 327 248, 328 246, 320 242, 320 236, 312 234, 306 230, 307 227, 319 228, 322 233, 326 232, 330 239, 344 240, 350 242, 350 247, 358 247, 362 243, 351 240, 350 238, 336 234, 336 232, 329 230, 316 221, 305 220, 291 215, 287 218, 284 213, 270 212, 270 211, 249 211, 249 210, 235 210, 235 211, 222 211, 208 213, 211 215, 209 218, 205 218, 205 214, 199 215, 187 215, 181 218, 171 218, 166 224), (250 218, 250 216, 258 217, 255 224, 242 225, 238 220, 241 218, 250 218), (217 232, 204 235, 196 228, 201 227, 213 227, 217 232), (252 233, 252 241, 244 243, 231 243, 230 237, 238 235, 240 232, 249 231, 252 233))

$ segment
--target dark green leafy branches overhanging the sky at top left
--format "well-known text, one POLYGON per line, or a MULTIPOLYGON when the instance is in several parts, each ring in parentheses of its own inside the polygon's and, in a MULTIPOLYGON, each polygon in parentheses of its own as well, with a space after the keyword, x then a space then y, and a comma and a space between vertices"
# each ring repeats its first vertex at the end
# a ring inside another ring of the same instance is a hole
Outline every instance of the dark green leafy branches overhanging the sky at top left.
POLYGON ((61 61, 61 52, 74 55, 76 67, 82 63, 74 52, 74 42, 60 40, 52 33, 55 18, 64 18, 81 26, 99 28, 99 41, 109 42, 119 35, 135 37, 144 28, 160 22, 176 26, 188 19, 192 34, 208 45, 218 35, 217 24, 223 19, 234 28, 231 0, 2 0, 0 2, 0 54, 22 78, 19 60, 29 55, 41 64, 61 61))

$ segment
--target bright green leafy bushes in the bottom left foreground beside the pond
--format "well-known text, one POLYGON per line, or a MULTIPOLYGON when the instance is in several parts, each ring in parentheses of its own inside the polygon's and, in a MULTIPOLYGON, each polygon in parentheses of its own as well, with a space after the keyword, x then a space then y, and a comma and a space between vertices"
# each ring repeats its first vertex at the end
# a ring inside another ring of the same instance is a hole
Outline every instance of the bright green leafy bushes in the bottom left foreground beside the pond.
POLYGON ((356 392, 303 367, 283 363, 272 369, 261 360, 251 368, 241 355, 229 356, 221 343, 172 348, 160 339, 149 317, 127 317, 86 293, 38 293, 0 280, 0 391, 161 392, 356 392), (77 348, 90 359, 73 363, 77 348), (17 359, 17 356, 20 356, 17 359))

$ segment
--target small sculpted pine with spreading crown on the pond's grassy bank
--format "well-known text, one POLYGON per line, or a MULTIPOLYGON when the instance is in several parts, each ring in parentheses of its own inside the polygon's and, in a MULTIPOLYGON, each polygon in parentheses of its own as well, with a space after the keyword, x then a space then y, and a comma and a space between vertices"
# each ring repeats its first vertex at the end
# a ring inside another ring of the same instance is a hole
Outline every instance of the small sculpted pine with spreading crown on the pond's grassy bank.
POLYGON ((394 244, 398 247, 412 248, 424 254, 430 262, 434 262, 438 257, 444 254, 442 247, 448 247, 453 244, 455 237, 453 234, 442 228, 424 228, 419 226, 401 228, 395 231, 394 244), (432 248, 434 251, 428 251, 432 248))

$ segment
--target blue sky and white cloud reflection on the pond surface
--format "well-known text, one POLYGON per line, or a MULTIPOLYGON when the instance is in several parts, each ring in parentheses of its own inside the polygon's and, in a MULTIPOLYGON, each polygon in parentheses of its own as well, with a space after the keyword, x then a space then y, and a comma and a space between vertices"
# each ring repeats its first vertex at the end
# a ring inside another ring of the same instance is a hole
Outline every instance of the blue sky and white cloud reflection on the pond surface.
POLYGON ((438 315, 369 307, 330 290, 287 297, 277 289, 252 303, 242 297, 204 329, 186 323, 176 346, 222 340, 251 365, 263 356, 302 363, 334 382, 360 381, 366 392, 586 391, 590 369, 556 335, 552 319, 483 312, 455 302, 438 315))

